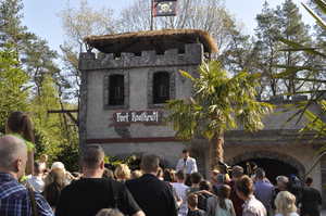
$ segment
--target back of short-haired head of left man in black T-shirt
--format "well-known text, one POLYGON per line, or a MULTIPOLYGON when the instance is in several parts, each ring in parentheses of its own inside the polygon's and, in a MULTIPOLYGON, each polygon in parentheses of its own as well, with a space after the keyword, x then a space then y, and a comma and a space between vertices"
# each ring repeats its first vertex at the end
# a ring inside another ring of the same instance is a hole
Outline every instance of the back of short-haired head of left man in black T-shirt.
POLYGON ((100 145, 91 144, 83 151, 82 164, 88 169, 99 168, 101 162, 104 160, 104 151, 100 145))

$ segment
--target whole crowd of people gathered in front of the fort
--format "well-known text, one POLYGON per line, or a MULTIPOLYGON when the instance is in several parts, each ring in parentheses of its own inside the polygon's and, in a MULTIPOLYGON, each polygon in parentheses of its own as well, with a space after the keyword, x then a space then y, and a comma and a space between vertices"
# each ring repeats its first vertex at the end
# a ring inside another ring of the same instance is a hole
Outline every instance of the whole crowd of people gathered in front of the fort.
POLYGON ((28 167, 34 145, 22 132, 28 117, 18 114, 15 120, 25 126, 13 130, 8 124, 13 132, 0 138, 1 216, 321 215, 322 198, 312 178, 300 186, 292 176, 278 176, 274 186, 263 168, 249 176, 236 165, 229 171, 213 169, 204 179, 188 150, 175 169, 163 169, 152 154, 142 155, 139 169, 127 164, 108 169, 103 149, 92 144, 82 152, 80 173, 71 174, 61 162, 48 167, 47 155, 28 167))

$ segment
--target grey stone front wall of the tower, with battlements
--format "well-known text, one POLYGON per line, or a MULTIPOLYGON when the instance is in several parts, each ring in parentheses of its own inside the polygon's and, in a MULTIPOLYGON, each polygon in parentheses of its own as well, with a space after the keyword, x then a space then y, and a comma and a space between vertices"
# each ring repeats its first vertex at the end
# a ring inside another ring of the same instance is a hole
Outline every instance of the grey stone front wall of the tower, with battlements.
POLYGON ((185 53, 178 53, 176 49, 167 50, 164 54, 142 51, 139 56, 122 53, 120 58, 104 53, 99 53, 98 56, 90 52, 82 53, 79 60, 79 69, 83 74, 79 115, 82 148, 91 142, 102 144, 111 155, 158 153, 174 164, 185 144, 172 139, 175 131, 171 127, 164 123, 117 125, 113 115, 120 111, 160 111, 163 116, 166 115, 163 104, 152 104, 153 73, 170 73, 171 99, 189 98, 191 82, 180 76, 178 71, 184 69, 196 75, 202 61, 202 45, 185 45, 185 53), (123 106, 106 103, 108 76, 115 74, 125 77, 123 106))

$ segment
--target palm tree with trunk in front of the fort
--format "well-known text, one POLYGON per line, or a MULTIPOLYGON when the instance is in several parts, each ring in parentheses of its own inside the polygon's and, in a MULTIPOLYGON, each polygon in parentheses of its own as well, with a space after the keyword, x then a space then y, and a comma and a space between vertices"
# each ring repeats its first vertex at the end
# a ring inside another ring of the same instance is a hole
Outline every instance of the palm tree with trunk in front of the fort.
POLYGON ((176 137, 190 140, 202 136, 209 140, 210 167, 223 161, 224 134, 241 126, 256 131, 264 127, 262 117, 273 105, 256 100, 260 74, 241 72, 234 77, 217 61, 203 63, 198 76, 180 71, 192 81, 193 96, 185 100, 171 100, 166 107, 176 137))

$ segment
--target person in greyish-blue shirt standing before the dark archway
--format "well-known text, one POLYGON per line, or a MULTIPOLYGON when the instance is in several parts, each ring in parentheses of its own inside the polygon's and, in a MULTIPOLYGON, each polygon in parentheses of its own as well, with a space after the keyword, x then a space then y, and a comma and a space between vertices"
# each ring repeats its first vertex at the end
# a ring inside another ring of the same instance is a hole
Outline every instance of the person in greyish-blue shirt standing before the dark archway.
POLYGON ((272 198, 274 186, 266 180, 266 174, 264 169, 258 168, 255 171, 254 195, 263 203, 268 215, 272 215, 272 198))

